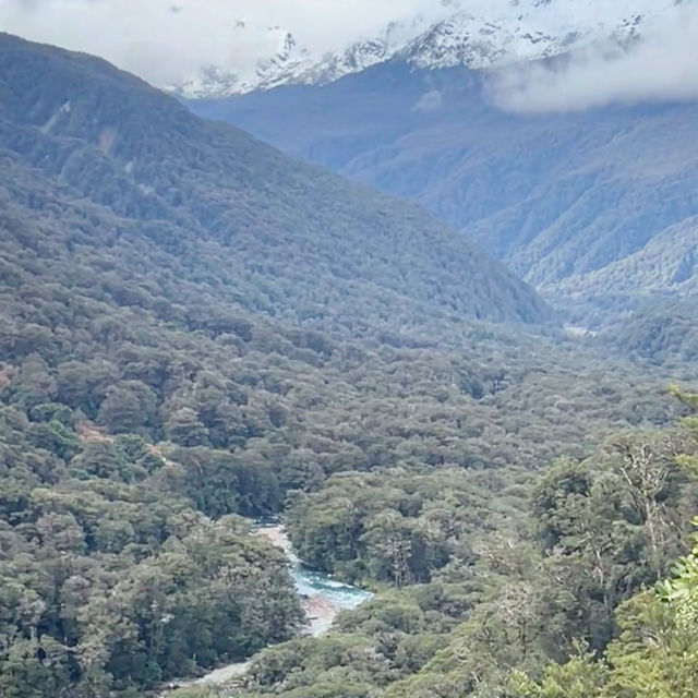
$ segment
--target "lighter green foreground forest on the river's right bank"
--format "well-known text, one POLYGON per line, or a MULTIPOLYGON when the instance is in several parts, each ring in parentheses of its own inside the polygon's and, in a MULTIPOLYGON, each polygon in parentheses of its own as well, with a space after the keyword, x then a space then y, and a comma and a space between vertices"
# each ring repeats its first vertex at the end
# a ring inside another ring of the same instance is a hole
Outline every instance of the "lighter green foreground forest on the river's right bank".
MULTIPOLYGON (((697 395, 678 397, 698 411, 697 395)), ((466 480, 440 469, 400 488, 399 476, 356 474, 291 505, 301 550, 340 574, 361 570, 380 593, 326 637, 258 654, 243 685, 177 697, 698 695, 696 417, 556 460, 528 490, 524 517, 500 512, 493 527, 466 480)))

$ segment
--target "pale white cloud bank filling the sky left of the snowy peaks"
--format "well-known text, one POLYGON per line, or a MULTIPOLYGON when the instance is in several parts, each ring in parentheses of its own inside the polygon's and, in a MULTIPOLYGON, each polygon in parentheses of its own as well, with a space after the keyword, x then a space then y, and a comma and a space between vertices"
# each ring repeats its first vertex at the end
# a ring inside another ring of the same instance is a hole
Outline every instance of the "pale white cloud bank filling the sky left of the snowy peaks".
POLYGON ((433 0, 0 0, 0 29, 101 56, 156 85, 208 64, 240 72, 293 33, 313 53, 348 46, 433 0), (236 28, 239 21, 245 31, 236 28))

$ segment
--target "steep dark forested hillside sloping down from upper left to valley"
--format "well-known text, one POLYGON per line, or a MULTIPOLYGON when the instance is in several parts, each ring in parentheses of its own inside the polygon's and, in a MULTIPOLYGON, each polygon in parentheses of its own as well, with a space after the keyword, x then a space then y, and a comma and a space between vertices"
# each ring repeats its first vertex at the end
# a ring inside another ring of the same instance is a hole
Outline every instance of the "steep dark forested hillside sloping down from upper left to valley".
POLYGON ((423 338, 440 317, 550 317, 417 206, 203 121, 100 60, 4 35, 0 79, 4 196, 46 220, 34 189, 59 185, 58 205, 89 202, 109 219, 93 243, 131 240, 135 264, 161 257, 231 303, 340 334, 423 338))

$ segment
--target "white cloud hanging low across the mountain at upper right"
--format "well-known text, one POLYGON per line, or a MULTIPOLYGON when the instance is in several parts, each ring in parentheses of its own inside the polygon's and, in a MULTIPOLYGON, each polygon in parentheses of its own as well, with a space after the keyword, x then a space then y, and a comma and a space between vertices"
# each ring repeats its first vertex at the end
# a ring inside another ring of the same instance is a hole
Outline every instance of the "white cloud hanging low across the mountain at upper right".
POLYGON ((698 9, 677 7, 626 51, 595 46, 547 67, 513 67, 496 75, 491 87, 497 106, 520 113, 696 99, 698 9))

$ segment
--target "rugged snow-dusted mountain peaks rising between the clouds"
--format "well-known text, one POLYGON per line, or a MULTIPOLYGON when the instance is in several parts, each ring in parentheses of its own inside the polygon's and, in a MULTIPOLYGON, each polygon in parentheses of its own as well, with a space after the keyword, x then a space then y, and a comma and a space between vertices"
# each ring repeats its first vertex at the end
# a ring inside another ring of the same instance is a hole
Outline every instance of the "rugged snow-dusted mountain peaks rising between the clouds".
MULTIPOLYGON (((497 67, 581 49, 624 46, 698 0, 442 0, 429 15, 394 22, 336 52, 316 55, 289 32, 267 29, 274 47, 251 70, 208 65, 171 88, 189 98, 220 98, 284 84, 324 84, 390 59, 417 68, 497 67)), ((237 32, 244 32, 240 23, 237 32)))

